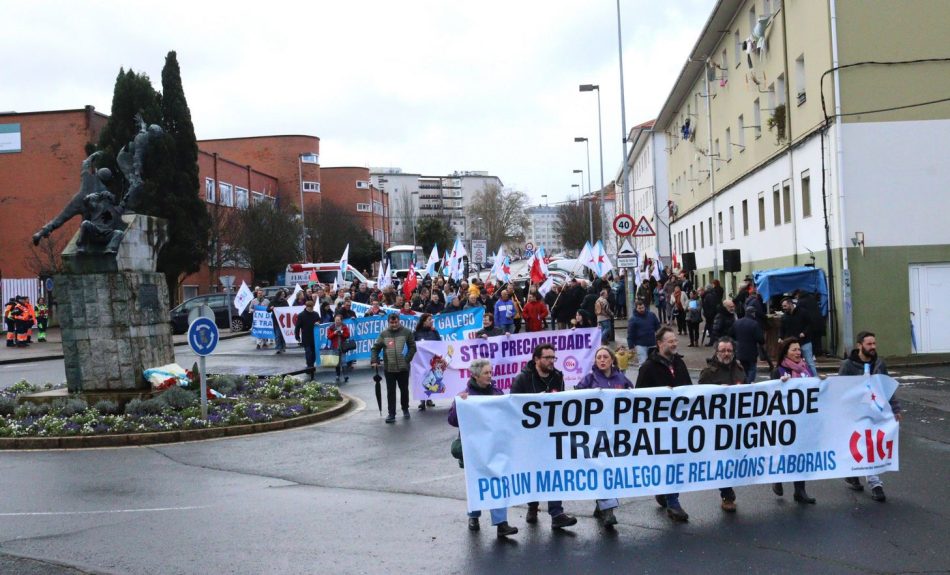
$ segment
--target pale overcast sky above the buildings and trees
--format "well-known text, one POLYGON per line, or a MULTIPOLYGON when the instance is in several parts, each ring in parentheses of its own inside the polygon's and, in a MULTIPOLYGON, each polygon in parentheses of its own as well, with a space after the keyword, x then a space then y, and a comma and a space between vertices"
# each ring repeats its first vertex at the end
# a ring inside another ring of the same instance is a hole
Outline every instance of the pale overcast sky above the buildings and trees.
MULTIPOLYGON (((654 118, 714 0, 622 0, 627 129, 654 118)), ((0 110, 108 114, 120 67, 176 50, 199 139, 320 138, 324 166, 483 170, 533 201, 622 159, 616 3, 0 0, 0 110)), ((586 189, 586 181, 584 182, 586 189)))

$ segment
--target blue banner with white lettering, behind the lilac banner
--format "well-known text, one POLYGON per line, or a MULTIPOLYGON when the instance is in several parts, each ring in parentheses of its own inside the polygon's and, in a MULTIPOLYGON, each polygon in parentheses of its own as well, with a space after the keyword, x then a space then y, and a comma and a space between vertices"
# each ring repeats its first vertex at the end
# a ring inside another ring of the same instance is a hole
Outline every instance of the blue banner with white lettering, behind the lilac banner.
MULTIPOLYGON (((441 313, 433 316, 435 320, 435 330, 442 336, 443 341, 459 341, 469 339, 472 335, 482 328, 482 321, 485 316, 485 308, 479 306, 451 313, 441 313)), ((356 319, 344 320, 343 324, 350 329, 350 341, 356 342, 356 349, 347 353, 344 361, 369 359, 373 344, 379 338, 379 334, 388 327, 388 319, 385 315, 370 317, 360 317, 356 319)), ((399 322, 412 331, 415 331, 419 323, 417 315, 400 315, 399 322)), ((314 344, 317 348, 317 365, 320 365, 321 349, 330 349, 330 341, 327 339, 327 330, 332 323, 320 324, 314 328, 314 344)), ((258 336, 254 336, 258 337, 258 336)))

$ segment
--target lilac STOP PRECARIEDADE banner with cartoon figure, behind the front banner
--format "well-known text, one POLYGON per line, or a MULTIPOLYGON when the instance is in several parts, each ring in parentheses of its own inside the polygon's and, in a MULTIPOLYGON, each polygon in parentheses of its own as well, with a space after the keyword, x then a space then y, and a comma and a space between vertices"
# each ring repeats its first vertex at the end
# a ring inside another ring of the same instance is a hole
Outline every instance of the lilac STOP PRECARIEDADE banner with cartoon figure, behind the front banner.
POLYGON ((554 366, 564 373, 564 388, 571 389, 594 364, 594 352, 600 346, 600 329, 534 331, 462 341, 418 341, 411 366, 412 397, 416 400, 455 397, 468 384, 469 364, 478 358, 491 360, 492 379, 507 393, 511 382, 531 359, 534 348, 542 343, 554 346, 557 351, 554 366))

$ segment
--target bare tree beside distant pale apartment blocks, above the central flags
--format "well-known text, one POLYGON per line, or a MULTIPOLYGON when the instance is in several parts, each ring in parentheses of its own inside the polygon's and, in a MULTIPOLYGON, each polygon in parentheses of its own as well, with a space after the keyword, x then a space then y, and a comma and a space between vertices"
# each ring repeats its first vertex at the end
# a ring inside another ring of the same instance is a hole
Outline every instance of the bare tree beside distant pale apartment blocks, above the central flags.
POLYGON ((478 227, 485 230, 488 245, 497 249, 500 245, 524 241, 524 230, 529 223, 524 211, 527 205, 528 196, 524 192, 485 184, 472 198, 468 217, 481 218, 478 227))

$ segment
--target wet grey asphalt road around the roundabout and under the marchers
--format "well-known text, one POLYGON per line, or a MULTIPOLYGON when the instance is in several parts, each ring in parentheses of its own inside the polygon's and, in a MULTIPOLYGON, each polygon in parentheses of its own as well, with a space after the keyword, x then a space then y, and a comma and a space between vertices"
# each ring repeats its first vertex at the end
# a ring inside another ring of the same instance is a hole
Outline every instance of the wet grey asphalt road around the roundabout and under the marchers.
POLYGON ((623 500, 620 524, 605 530, 593 502, 572 501, 579 523, 563 532, 545 516, 525 525, 521 506, 509 541, 487 514, 481 532, 466 529, 448 405, 385 425, 367 370, 343 391, 357 399, 346 416, 295 430, 0 452, 0 573, 950 571, 950 391, 940 380, 901 388, 902 470, 884 476, 887 503, 840 480, 810 483, 818 504, 807 507, 750 486, 737 489, 735 515, 716 491, 684 494, 690 522, 680 525, 652 498, 623 500))

